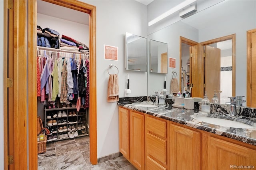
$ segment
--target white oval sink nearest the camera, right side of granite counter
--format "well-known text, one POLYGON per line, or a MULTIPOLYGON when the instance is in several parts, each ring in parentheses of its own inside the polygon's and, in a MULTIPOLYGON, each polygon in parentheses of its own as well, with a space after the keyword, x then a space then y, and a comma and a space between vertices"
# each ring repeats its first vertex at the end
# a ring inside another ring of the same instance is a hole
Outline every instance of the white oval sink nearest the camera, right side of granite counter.
POLYGON ((219 119, 219 118, 213 118, 213 117, 196 117, 196 120, 200 122, 206 122, 213 125, 219 125, 224 127, 233 127, 233 128, 254 128, 250 125, 246 125, 244 123, 236 122, 236 121, 230 121, 226 119, 219 119))

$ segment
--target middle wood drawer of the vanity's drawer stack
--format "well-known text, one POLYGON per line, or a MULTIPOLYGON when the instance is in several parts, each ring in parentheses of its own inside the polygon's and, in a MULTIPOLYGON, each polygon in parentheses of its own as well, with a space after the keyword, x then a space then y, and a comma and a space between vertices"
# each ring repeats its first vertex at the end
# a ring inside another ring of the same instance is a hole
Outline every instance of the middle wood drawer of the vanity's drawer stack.
POLYGON ((166 140, 158 138, 147 133, 146 138, 146 155, 155 159, 164 165, 167 164, 167 144, 166 140))

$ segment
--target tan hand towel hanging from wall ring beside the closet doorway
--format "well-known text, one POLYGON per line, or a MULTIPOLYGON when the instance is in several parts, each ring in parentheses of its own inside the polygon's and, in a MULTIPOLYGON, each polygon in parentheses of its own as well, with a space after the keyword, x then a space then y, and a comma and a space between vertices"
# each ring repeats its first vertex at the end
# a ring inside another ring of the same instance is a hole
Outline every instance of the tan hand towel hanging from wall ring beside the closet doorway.
POLYGON ((108 97, 107 102, 116 102, 119 101, 118 95, 118 75, 110 74, 108 79, 108 97))

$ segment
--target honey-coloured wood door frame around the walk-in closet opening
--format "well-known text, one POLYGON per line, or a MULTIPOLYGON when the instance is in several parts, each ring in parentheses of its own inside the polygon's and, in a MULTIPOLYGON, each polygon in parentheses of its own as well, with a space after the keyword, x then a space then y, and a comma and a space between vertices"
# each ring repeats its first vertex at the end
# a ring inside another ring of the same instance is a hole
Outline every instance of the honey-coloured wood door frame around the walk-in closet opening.
MULTIPOLYGON (((44 0, 90 15, 90 162, 97 164, 97 96, 96 96, 96 6, 78 0, 44 0)), ((4 1, 4 33, 14 35, 13 103, 4 100, 4 167, 8 168, 8 107, 14 115, 14 169, 37 169, 37 97, 36 97, 36 0, 4 1), (7 7, 13 2, 14 30, 7 28, 7 7), (27 12, 28 10, 28 12, 27 12), (27 15, 28 14, 28 15, 27 15), (27 34, 26 34, 27 33, 27 34), (10 104, 10 105, 9 105, 10 104), (28 130, 28 133, 27 133, 28 130), (28 161, 27 161, 28 160, 28 161)), ((4 42, 8 42, 4 34, 4 42)), ((7 91, 8 52, 4 43, 4 91, 7 91)), ((7 92, 4 92, 7 95, 7 92)))

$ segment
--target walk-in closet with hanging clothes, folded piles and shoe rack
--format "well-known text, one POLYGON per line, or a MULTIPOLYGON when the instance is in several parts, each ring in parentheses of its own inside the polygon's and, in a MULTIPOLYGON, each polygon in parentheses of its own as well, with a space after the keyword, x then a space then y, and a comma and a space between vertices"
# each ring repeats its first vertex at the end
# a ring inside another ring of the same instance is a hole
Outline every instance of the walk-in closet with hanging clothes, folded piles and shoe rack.
POLYGON ((37 9, 37 115, 47 143, 88 139, 89 14, 41 0, 37 9))

